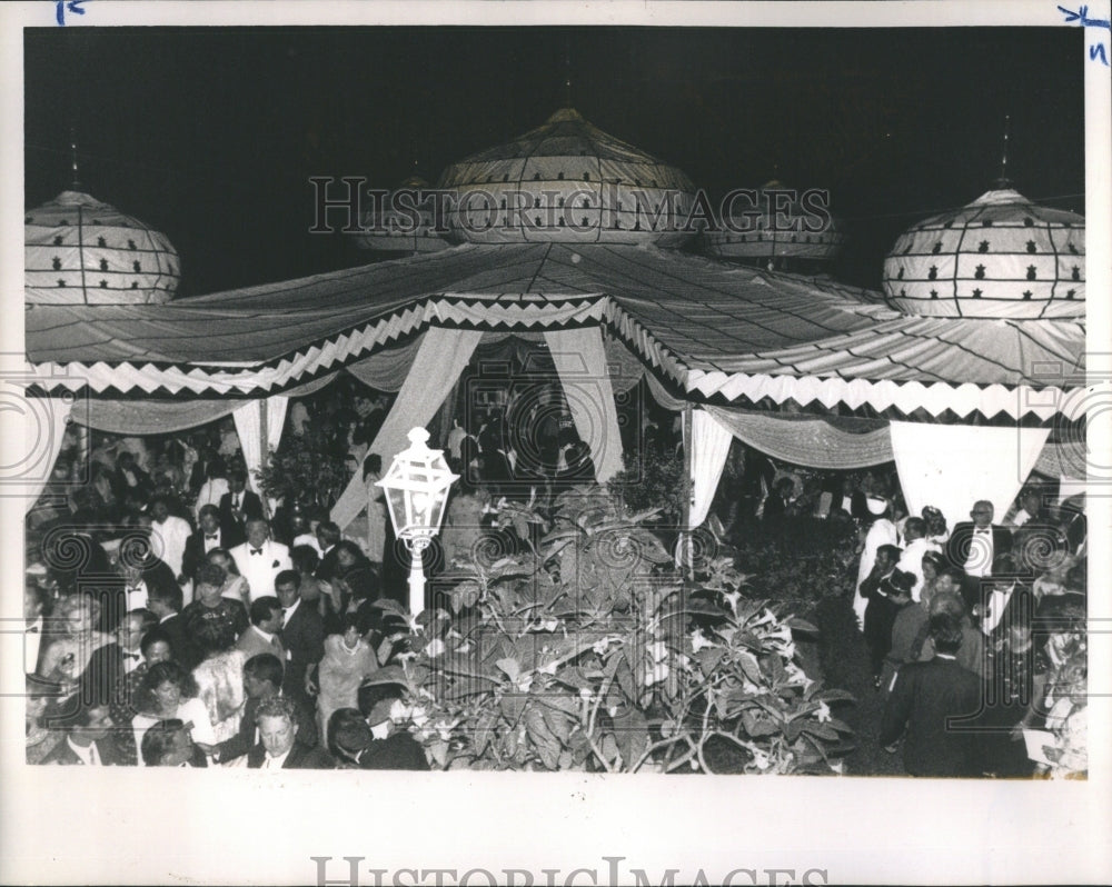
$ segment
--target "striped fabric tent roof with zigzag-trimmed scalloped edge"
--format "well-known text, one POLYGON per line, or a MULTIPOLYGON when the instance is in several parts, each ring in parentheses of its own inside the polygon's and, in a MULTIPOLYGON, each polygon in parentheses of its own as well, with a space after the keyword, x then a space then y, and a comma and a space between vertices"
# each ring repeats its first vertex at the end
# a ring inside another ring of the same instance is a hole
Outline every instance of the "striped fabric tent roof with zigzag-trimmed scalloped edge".
POLYGON ((1053 389, 1030 406, 1048 418, 1063 411, 1046 406, 1063 379, 1083 373, 1079 321, 906 317, 868 298, 880 297, 655 247, 464 245, 170 305, 33 306, 27 351, 47 387, 249 395, 429 325, 602 325, 696 399, 935 416, 955 403, 1020 416, 1016 387, 1031 387, 1053 389))

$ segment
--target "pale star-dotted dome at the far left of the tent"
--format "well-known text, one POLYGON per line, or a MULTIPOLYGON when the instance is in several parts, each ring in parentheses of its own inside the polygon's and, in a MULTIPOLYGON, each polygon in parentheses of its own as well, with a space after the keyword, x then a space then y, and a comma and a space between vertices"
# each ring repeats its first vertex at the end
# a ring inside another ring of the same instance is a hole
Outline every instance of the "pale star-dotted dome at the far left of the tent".
POLYGON ((126 305, 173 298, 181 262, 166 235, 80 191, 23 219, 24 300, 126 305))

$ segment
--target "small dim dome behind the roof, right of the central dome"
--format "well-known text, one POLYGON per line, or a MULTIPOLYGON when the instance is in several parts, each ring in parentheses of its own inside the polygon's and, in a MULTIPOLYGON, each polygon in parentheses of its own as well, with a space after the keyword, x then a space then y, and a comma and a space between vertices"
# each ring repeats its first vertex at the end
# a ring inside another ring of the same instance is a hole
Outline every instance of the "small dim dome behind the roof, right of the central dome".
POLYGON ((770 270, 820 270, 842 251, 845 236, 825 202, 806 200, 778 181, 763 185, 755 200, 738 196, 724 210, 718 231, 704 235, 705 251, 716 259, 770 270))

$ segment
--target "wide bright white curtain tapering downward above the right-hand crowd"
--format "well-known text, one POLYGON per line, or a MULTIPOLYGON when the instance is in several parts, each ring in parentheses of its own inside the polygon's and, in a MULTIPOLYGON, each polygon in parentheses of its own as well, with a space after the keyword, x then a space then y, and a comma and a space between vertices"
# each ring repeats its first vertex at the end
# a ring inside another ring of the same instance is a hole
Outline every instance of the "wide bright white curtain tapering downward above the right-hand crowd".
POLYGON ((952 528, 973 502, 992 502, 999 524, 1042 451, 1049 428, 892 422, 892 450, 911 515, 933 505, 952 528))

